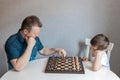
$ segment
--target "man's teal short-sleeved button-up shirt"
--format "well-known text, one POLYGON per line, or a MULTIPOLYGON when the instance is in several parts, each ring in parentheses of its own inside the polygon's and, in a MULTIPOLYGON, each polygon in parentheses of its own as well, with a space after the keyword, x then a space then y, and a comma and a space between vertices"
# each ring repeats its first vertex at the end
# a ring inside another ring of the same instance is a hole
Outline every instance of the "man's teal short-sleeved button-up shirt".
MULTIPOLYGON (((29 61, 35 60, 37 51, 43 49, 43 45, 38 37, 35 38, 36 44, 32 49, 29 61)), ((5 51, 8 59, 8 67, 12 69, 13 66, 10 60, 19 58, 27 48, 27 43, 20 32, 10 36, 5 44, 5 51)))

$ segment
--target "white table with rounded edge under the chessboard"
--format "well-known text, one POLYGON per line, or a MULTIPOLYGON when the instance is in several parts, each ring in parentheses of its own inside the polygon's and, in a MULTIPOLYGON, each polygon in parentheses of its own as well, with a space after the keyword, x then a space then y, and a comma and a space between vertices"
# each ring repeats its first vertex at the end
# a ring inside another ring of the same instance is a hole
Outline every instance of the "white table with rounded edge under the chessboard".
POLYGON ((93 72, 90 62, 83 62, 85 74, 45 73, 47 58, 37 59, 27 64, 21 72, 9 70, 1 80, 120 80, 112 71, 105 67, 93 72))

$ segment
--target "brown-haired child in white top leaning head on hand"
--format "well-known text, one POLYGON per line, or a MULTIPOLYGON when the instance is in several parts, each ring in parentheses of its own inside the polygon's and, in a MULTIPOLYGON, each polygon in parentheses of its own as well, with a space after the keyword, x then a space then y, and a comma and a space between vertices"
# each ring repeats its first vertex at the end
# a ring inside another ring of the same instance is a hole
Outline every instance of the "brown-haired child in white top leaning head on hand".
MULTIPOLYGON (((93 71, 100 70, 102 66, 110 68, 109 60, 106 54, 106 49, 109 45, 109 39, 104 34, 98 34, 93 37, 90 41, 90 61, 93 62, 92 69, 93 71)), ((86 57, 83 57, 83 60, 87 60, 86 57)))

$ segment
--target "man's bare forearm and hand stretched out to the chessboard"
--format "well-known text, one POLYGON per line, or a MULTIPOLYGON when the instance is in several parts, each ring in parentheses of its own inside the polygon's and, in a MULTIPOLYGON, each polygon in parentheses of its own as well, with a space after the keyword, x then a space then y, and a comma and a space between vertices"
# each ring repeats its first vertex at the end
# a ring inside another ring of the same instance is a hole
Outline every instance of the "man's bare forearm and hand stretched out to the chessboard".
POLYGON ((43 55, 51 55, 51 54, 58 53, 62 57, 66 56, 66 51, 61 48, 43 48, 42 50, 39 51, 39 53, 43 55))

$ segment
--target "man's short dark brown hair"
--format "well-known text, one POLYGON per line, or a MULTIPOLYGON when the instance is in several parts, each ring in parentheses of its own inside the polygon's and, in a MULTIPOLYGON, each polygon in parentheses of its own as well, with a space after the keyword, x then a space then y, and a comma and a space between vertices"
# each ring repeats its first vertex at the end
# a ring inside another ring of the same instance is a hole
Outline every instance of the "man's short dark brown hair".
POLYGON ((30 31, 32 29, 32 26, 35 25, 37 25, 38 27, 42 27, 42 23, 40 22, 39 18, 34 15, 28 16, 23 20, 20 30, 27 29, 30 31))

